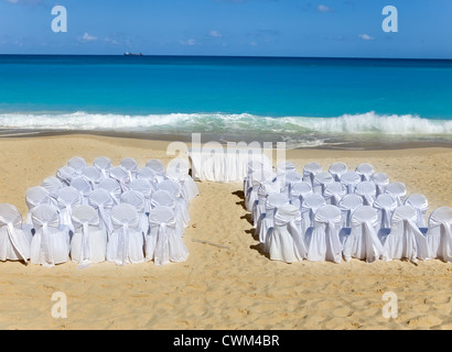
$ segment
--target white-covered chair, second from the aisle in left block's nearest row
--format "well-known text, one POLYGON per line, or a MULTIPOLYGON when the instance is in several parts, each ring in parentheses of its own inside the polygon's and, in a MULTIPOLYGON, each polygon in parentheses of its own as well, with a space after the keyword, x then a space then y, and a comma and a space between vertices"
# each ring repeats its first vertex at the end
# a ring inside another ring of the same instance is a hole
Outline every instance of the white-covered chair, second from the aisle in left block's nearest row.
POLYGON ((144 261, 144 239, 140 218, 132 205, 120 204, 111 210, 114 232, 107 243, 107 261, 117 265, 144 261))

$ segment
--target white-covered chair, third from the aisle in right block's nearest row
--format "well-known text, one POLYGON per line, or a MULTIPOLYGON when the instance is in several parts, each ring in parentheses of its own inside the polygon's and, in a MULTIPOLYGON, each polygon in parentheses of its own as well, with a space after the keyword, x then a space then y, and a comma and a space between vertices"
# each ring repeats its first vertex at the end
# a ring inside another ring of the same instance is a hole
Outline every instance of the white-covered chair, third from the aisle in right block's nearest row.
POLYGON ((378 261, 383 255, 383 244, 377 235, 378 213, 370 206, 358 207, 352 216, 352 229, 344 241, 343 255, 346 262, 352 257, 367 263, 378 261))

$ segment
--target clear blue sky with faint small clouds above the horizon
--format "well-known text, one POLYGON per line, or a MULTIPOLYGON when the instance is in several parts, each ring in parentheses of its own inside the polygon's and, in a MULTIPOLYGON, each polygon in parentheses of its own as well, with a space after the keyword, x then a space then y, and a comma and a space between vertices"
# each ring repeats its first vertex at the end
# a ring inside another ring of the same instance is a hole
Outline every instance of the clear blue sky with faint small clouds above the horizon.
POLYGON ((0 0, 0 54, 452 58, 451 0, 0 0), (52 8, 67 10, 54 33, 52 8), (398 32, 385 33, 385 6, 398 32))

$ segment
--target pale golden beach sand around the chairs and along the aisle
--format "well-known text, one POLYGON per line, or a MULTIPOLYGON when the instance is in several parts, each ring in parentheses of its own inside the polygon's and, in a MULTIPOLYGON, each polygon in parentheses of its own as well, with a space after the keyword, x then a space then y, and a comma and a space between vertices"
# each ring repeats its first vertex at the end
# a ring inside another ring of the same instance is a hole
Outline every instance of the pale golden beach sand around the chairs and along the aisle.
MULTIPOLYGON (((26 215, 24 195, 73 156, 140 166, 165 164, 168 142, 60 135, 0 139, 0 202, 26 215)), ((452 207, 452 148, 288 151, 299 170, 311 161, 351 168, 372 163, 391 180, 422 193, 430 209, 452 207)), ((243 207, 241 183, 197 183, 184 234, 190 257, 78 270, 0 263, 0 329, 452 329, 452 264, 439 260, 286 264, 262 254, 243 207), (208 241, 222 248, 203 243, 208 241), (67 318, 52 317, 52 295, 67 297, 67 318), (383 295, 398 297, 398 317, 383 317, 383 295)))

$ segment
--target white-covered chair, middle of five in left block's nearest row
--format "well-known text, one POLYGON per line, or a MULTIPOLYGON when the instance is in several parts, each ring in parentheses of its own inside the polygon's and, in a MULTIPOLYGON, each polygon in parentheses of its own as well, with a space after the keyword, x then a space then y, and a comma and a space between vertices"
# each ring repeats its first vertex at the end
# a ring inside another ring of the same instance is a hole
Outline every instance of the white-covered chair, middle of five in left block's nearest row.
POLYGON ((71 239, 71 258, 79 268, 105 262, 107 230, 100 226, 98 212, 90 206, 76 206, 72 221, 75 231, 71 239))

